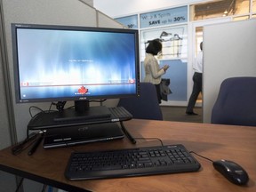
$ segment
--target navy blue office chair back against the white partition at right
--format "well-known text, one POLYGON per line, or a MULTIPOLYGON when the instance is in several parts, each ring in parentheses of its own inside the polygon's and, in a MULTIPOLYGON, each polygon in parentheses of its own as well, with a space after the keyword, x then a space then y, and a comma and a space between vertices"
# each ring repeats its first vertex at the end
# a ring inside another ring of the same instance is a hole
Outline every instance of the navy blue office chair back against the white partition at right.
POLYGON ((230 77, 220 84, 212 124, 256 126, 256 77, 230 77))

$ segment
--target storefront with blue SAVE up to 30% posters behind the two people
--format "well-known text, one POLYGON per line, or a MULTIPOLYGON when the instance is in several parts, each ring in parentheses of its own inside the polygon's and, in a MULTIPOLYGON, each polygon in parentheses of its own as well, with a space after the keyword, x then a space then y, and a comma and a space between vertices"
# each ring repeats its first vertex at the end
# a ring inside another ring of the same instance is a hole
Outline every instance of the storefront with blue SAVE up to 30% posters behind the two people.
MULTIPOLYGON (((114 3, 114 0, 108 1, 111 4, 114 3)), ((123 2, 123 6, 127 7, 124 10, 132 12, 133 7, 133 12, 136 13, 116 16, 115 11, 113 12, 112 10, 111 15, 114 15, 114 18, 125 27, 138 28, 140 31, 141 80, 144 77, 143 60, 148 40, 154 38, 162 40, 163 54, 157 59, 160 66, 164 64, 170 65, 170 70, 163 78, 171 79, 170 87, 172 90, 172 94, 168 96, 168 101, 164 101, 162 105, 187 105, 193 86, 192 63, 200 50, 199 44, 203 41, 203 28, 205 25, 233 20, 248 20, 256 17, 255 0, 180 1, 179 3, 174 1, 172 4, 177 5, 172 5, 171 7, 164 7, 164 1, 159 1, 158 4, 159 6, 162 5, 162 8, 153 11, 151 9, 147 12, 140 10, 146 9, 149 6, 148 4, 152 5, 154 3, 149 1, 141 9, 137 8, 142 2, 123 2), (184 4, 186 2, 188 4, 184 4)), ((97 0, 94 1, 94 4, 97 7, 97 0)), ((119 1, 119 4, 122 4, 122 1, 119 1)), ((168 4, 166 3, 166 5, 168 4)), ((118 6, 117 2, 116 6, 118 6)), ((157 5, 155 4, 155 6, 157 5)), ((118 10, 120 9, 122 7, 118 10)), ((108 6, 106 7, 106 4, 105 10, 105 13, 108 14, 108 6)), ((118 14, 118 10, 116 10, 116 14, 118 14)), ((101 11, 104 12, 104 10, 101 11)), ((201 96, 198 99, 196 105, 201 106, 201 96)))

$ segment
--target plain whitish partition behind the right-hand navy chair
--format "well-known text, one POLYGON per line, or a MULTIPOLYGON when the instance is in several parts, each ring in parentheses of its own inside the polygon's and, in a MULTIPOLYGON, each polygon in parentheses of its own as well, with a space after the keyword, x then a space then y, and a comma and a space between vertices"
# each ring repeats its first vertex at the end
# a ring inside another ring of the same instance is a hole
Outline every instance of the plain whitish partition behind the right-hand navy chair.
POLYGON ((211 122, 212 106, 225 78, 256 76, 255 34, 255 19, 204 27, 204 123, 211 122))

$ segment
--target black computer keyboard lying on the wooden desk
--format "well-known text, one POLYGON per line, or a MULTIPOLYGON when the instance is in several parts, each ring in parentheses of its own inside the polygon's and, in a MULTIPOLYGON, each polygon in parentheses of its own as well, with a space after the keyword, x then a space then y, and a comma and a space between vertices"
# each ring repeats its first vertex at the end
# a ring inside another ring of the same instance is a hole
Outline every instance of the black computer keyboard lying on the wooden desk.
POLYGON ((65 176, 68 180, 91 180, 196 172, 200 164, 183 145, 75 152, 65 176))

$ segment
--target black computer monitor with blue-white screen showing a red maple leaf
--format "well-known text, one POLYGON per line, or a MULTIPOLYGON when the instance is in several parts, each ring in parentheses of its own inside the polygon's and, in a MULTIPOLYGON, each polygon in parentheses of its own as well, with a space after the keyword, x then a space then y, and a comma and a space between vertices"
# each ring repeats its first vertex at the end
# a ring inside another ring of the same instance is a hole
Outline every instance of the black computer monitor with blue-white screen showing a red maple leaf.
POLYGON ((90 100, 140 94, 135 29, 14 23, 12 52, 17 103, 74 100, 76 118, 90 100))

